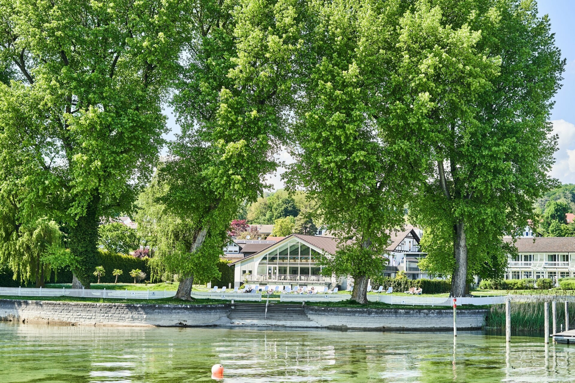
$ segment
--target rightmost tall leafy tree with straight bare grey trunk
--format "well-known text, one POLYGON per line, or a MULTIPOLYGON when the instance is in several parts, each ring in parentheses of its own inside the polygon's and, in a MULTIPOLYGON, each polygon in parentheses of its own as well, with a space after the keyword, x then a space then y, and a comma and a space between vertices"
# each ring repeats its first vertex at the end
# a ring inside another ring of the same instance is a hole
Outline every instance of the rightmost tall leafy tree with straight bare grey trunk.
POLYGON ((398 33, 395 72, 408 86, 393 108, 411 122, 394 135, 415 138, 425 163, 409 205, 425 231, 420 265, 450 274, 463 296, 473 275, 503 275, 503 235, 553 185, 549 117, 565 61, 535 2, 415 1, 398 33))

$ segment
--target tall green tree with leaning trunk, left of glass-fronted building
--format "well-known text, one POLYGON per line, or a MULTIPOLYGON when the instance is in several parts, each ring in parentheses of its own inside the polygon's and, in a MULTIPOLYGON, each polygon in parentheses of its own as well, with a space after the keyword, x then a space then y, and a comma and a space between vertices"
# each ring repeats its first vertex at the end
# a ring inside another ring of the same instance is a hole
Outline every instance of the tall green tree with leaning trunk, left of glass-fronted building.
MULTIPOLYGON (((191 299, 194 277, 218 275, 229 222, 244 200, 263 195, 277 164, 285 101, 292 92, 289 59, 297 54, 297 2, 198 2, 189 52, 173 104, 182 133, 159 167, 155 262, 177 270, 176 297, 191 299)), ((153 259, 154 259, 153 258, 153 259)))

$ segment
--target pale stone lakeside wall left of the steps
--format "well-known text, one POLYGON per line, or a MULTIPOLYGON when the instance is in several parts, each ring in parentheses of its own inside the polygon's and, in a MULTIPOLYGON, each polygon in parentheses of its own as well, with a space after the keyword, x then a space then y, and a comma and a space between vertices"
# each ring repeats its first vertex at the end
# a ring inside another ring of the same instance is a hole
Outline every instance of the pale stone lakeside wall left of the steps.
POLYGON ((229 323, 229 304, 163 305, 0 299, 0 320, 89 326, 206 326, 229 323))

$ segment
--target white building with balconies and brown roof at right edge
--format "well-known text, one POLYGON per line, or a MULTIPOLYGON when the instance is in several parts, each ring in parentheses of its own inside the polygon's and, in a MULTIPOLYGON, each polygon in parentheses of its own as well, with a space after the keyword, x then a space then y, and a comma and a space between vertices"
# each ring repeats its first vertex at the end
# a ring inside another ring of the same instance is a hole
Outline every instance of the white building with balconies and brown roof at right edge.
MULTIPOLYGON (((511 238, 505 238, 511 241, 511 238)), ((517 255, 509 257, 505 279, 575 276, 575 237, 518 238, 517 255)))

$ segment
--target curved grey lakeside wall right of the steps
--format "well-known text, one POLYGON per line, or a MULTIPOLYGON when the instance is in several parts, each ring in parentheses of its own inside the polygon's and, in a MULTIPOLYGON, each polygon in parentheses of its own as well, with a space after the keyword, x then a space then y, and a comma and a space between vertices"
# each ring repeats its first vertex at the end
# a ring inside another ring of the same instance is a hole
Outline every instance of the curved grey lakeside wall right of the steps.
MULTIPOLYGON (((305 314, 321 327, 381 330, 452 330, 453 310, 382 310, 305 306, 305 314)), ((488 310, 458 310, 457 328, 481 328, 488 310)))

